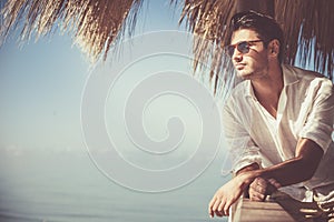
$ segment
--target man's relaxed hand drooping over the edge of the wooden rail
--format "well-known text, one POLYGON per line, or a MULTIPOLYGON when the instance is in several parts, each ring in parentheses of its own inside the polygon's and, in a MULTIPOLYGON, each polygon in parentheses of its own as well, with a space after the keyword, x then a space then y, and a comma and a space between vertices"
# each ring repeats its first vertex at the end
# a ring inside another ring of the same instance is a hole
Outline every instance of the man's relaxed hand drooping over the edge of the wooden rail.
POLYGON ((240 173, 219 188, 208 205, 210 218, 214 218, 215 214, 217 216, 228 215, 230 205, 240 198, 252 179, 250 172, 240 173))

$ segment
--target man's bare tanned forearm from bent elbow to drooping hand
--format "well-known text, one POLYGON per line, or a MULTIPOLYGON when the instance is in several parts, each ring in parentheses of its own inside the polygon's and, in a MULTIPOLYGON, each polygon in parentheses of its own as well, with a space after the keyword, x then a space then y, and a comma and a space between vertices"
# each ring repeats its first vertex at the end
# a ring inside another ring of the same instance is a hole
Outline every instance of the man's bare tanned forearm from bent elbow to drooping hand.
POLYGON ((209 203, 209 215, 228 215, 230 205, 238 200, 246 188, 256 179, 275 179, 282 185, 306 181, 314 174, 323 150, 310 139, 301 139, 296 148, 296 157, 266 169, 242 171, 223 185, 209 203))

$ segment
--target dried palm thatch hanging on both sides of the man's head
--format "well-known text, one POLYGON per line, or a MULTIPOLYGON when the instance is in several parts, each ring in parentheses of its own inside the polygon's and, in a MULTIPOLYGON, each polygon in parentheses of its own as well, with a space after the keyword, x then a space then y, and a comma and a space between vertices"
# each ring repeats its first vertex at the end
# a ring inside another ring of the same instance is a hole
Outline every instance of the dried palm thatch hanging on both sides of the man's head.
MULTIPOLYGON (((315 70, 325 73, 333 80, 334 72, 334 8, 333 0, 262 0, 254 3, 273 3, 274 7, 261 6, 262 9, 275 9, 274 17, 282 26, 285 42, 285 57, 287 63, 298 61, 302 65, 314 63, 315 70), (297 53, 298 52, 298 53, 297 53)), ((223 47, 229 41, 226 26, 233 14, 249 8, 250 1, 246 0, 186 0, 180 22, 186 20, 189 31, 198 38, 194 42, 197 69, 198 61, 210 61, 212 73, 217 82, 217 73, 222 68, 223 82, 230 78, 230 62, 226 59, 223 47), (242 7, 240 4, 248 6, 242 7), (212 43, 208 43, 212 42, 212 43), (215 74, 216 73, 216 74, 215 74)), ((258 7, 258 6, 256 6, 258 7)), ((255 7, 255 10, 256 10, 255 7)), ((250 8, 249 9, 254 9, 250 8)), ((199 63, 200 64, 200 63, 199 63)), ((217 87, 217 84, 215 85, 217 87)), ((222 87, 222 85, 220 85, 222 87)))

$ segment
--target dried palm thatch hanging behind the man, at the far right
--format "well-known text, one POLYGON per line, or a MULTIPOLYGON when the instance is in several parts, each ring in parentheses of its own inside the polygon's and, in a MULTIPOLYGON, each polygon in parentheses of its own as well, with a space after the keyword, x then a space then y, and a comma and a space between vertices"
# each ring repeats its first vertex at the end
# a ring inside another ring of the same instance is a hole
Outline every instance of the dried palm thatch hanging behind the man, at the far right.
POLYGON ((286 62, 297 59, 302 65, 314 62, 316 70, 333 80, 334 72, 333 0, 275 1, 275 18, 282 24, 286 62))

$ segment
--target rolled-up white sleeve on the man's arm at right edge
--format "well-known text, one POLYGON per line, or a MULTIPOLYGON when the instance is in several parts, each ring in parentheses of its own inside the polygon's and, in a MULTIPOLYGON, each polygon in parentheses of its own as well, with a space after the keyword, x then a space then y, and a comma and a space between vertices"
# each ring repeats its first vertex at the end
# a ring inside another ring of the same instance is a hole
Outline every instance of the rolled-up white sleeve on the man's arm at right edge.
POLYGON ((334 89, 330 80, 312 82, 312 109, 304 127, 299 132, 301 138, 316 142, 326 152, 332 142, 334 124, 334 89))

